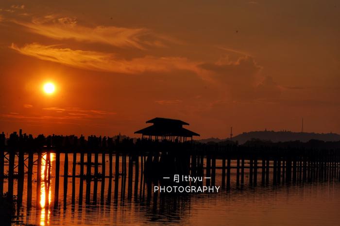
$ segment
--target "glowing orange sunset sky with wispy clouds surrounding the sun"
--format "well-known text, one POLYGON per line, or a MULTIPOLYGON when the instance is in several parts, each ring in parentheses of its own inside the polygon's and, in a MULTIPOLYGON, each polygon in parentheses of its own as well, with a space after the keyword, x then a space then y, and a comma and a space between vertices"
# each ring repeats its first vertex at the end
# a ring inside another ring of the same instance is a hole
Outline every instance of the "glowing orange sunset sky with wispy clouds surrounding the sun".
POLYGON ((336 0, 2 0, 0 30, 0 131, 340 133, 336 0))

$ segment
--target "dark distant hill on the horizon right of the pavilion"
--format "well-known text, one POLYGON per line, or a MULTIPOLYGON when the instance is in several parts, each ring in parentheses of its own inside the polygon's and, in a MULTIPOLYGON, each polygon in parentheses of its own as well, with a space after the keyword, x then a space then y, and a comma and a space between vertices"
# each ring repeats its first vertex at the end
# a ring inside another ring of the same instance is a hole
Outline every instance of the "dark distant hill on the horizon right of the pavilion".
MULTIPOLYGON (((316 133, 296 133, 291 131, 252 131, 239 134, 233 137, 233 141, 238 141, 239 144, 244 144, 248 140, 259 139, 259 140, 271 140, 272 142, 285 142, 285 141, 295 141, 300 140, 301 142, 308 142, 311 139, 323 140, 323 141, 340 141, 340 135, 334 133, 328 134, 316 134, 316 133)), ((219 139, 219 138, 208 138, 197 140, 201 143, 210 142, 222 142, 230 141, 229 138, 219 139)))

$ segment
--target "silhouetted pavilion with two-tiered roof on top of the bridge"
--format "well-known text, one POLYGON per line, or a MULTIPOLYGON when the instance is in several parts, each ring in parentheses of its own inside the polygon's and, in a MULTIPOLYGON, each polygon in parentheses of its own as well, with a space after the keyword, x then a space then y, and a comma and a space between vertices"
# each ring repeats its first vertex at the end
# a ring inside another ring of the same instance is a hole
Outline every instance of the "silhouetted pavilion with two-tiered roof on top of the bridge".
POLYGON ((141 134, 142 138, 149 136, 149 139, 152 139, 152 136, 154 136, 155 139, 160 137, 162 140, 179 142, 187 141, 187 137, 191 137, 192 140, 192 136, 200 136, 195 132, 183 128, 183 125, 189 125, 189 123, 181 120, 154 118, 146 121, 146 123, 153 123, 153 125, 138 130, 135 134, 141 134))

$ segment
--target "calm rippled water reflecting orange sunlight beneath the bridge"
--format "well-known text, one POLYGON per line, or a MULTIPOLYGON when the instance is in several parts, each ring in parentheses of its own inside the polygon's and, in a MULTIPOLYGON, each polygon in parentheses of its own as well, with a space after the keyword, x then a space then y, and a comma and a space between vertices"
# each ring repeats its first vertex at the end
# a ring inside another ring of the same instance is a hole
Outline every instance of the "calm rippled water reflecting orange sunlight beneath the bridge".
MULTIPOLYGON (((34 156, 36 158, 36 156, 34 156)), ((72 173, 72 154, 68 155, 68 173, 72 173)), ((93 158, 93 155, 92 155, 93 158)), ((99 162, 101 162, 101 154, 99 162)), ((35 160, 35 159, 34 159, 35 160)), ((75 179, 75 204, 72 205, 72 178, 68 178, 66 203, 64 202, 64 177, 60 177, 58 205, 54 206, 55 157, 51 154, 50 186, 41 182, 40 202, 36 203, 36 183, 33 183, 33 207, 27 208, 27 175, 25 178, 23 203, 14 219, 16 225, 233 225, 233 226, 338 226, 340 225, 340 182, 326 181, 299 185, 278 185, 251 188, 245 184, 242 190, 236 188, 235 178, 230 190, 218 194, 187 194, 181 196, 153 193, 153 185, 142 186, 135 175, 132 191, 122 190, 121 178, 98 181, 97 195, 94 195, 95 182, 91 182, 90 204, 85 204, 84 181, 83 204, 79 205, 80 178, 75 179), (115 190, 116 189, 116 190, 115 190), (115 197, 115 191, 116 196, 115 197), (108 196, 108 194, 111 194, 108 196), (38 208, 36 207, 38 205, 38 208)), ((93 161, 94 159, 92 159, 93 161)), ((113 158, 115 160, 115 158, 113 158)), ((80 156, 77 156, 77 162, 80 156)), ((108 161, 108 156, 106 156, 108 161)), ((85 156, 86 162, 86 156, 85 156)), ((44 160, 43 160, 44 164, 44 160)), ((235 164, 235 163, 233 163, 235 164)), ((217 161, 217 166, 221 162, 217 161)), ((108 175, 108 162, 106 175, 108 175)), ((7 166, 6 166, 7 167, 7 166)), ((5 167, 5 171, 7 170, 5 167)), ((42 166, 42 175, 44 172, 42 166)), ((115 163, 113 163, 113 168, 115 163)), ((34 165, 33 179, 36 179, 37 166, 34 165)), ((25 169, 27 170, 27 169, 25 169)), ((76 166, 79 174, 80 166, 76 166)), ((92 173, 94 168, 92 167, 92 173)), ((102 171, 101 166, 99 172, 102 171)), ((114 171, 114 169, 113 169, 114 171)), ((60 175, 64 172, 64 155, 61 154, 60 175)), ((86 172, 86 166, 84 168, 86 172)), ((140 172, 139 172, 140 173, 140 172)), ((248 182, 247 171, 245 181, 248 182)), ((259 183, 260 184, 260 176, 259 183)), ((139 176, 140 180, 140 176, 139 176)), ((14 194, 17 194, 15 181, 14 194)), ((4 191, 7 191, 7 181, 4 191)), ((142 183, 143 185, 143 183, 142 183)), ((221 170, 217 169, 216 185, 221 185, 221 170)))

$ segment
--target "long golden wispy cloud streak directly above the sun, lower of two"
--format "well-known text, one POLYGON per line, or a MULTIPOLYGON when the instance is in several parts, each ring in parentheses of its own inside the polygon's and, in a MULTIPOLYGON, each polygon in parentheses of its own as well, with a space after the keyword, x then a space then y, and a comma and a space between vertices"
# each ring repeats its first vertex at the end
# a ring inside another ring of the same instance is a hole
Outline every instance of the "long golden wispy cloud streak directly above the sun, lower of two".
POLYGON ((197 63, 179 57, 156 58, 145 56, 132 60, 119 59, 112 53, 97 51, 73 50, 70 48, 58 48, 55 45, 40 45, 37 43, 18 47, 12 44, 10 48, 19 53, 40 60, 58 62, 69 66, 107 71, 116 73, 135 74, 145 71, 170 71, 172 69, 199 71, 197 63))

